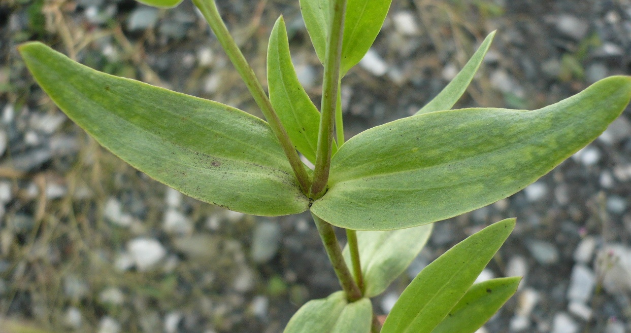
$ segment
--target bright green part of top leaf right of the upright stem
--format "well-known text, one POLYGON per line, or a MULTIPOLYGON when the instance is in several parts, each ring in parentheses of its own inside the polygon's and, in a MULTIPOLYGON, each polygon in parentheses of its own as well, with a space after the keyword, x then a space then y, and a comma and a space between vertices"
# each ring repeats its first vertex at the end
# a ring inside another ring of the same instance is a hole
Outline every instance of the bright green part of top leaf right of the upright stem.
POLYGON ((344 21, 341 76, 357 65, 381 30, 392 0, 348 0, 344 21))

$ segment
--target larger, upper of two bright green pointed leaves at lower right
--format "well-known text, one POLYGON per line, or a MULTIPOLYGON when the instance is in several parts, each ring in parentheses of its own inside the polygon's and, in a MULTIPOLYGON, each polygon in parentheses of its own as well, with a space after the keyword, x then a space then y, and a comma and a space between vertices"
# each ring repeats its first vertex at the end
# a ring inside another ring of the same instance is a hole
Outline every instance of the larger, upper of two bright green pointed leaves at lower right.
POLYGON ((425 267, 394 304, 381 332, 432 332, 463 298, 514 227, 514 218, 493 223, 425 267))

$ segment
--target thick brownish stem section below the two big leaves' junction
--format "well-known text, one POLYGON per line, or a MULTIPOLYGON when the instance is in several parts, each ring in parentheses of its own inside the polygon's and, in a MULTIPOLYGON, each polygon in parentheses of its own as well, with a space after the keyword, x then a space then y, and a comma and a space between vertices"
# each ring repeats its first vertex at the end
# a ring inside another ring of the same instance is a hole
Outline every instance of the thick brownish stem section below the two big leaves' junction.
POLYGON ((339 247, 338 237, 336 237, 335 231, 333 230, 333 225, 317 217, 315 214, 311 214, 311 216, 314 218, 315 227, 317 227, 326 254, 329 256, 331 264, 333 264, 333 270, 338 276, 339 284, 346 293, 348 302, 359 300, 362 298, 362 291, 359 290, 355 280, 353 280, 351 272, 348 270, 348 266, 346 266, 346 262, 342 256, 342 250, 339 247))

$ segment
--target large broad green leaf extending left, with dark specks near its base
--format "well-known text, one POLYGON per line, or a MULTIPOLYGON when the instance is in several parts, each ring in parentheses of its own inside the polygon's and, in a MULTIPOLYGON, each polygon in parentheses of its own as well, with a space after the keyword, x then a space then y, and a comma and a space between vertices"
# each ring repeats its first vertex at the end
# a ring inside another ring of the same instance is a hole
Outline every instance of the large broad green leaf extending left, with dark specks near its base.
POLYGON ((35 80, 103 147, 182 193, 255 215, 304 212, 268 124, 227 105, 110 76, 42 43, 20 53, 35 80))

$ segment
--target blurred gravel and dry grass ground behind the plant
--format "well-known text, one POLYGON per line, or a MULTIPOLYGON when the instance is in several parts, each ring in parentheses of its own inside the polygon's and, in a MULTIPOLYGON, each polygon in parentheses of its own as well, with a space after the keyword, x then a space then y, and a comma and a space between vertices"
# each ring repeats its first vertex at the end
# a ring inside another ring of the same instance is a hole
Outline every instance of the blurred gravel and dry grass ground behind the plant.
MULTIPOLYGON (((319 104, 322 67, 298 1, 217 2, 262 81, 283 14, 298 76, 319 104)), ((628 0, 394 0, 374 47, 343 80, 346 137, 412 115, 493 30, 459 107, 540 108, 631 74, 628 0)), ((28 40, 261 116, 189 1, 159 10, 0 0, 0 332, 281 332, 300 305, 339 289, 308 214, 229 212, 136 171, 35 84, 15 48, 28 40)), ((524 191, 436 223, 408 272, 375 298, 377 312, 449 247, 517 217, 480 279, 524 279, 480 333, 631 332, 630 116, 524 191)))

